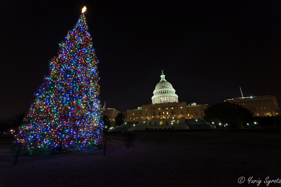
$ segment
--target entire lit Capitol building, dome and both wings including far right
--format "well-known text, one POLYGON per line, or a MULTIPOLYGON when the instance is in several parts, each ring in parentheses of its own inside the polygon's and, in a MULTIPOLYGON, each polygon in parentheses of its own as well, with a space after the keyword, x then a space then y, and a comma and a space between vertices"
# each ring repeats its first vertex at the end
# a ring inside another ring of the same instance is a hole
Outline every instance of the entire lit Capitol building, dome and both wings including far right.
MULTIPOLYGON (((160 81, 156 84, 150 104, 142 105, 137 109, 120 112, 114 108, 106 108, 104 115, 115 126, 115 117, 123 113, 124 124, 127 130, 145 129, 190 129, 215 128, 215 125, 205 122, 204 110, 208 104, 186 104, 179 102, 178 95, 172 84, 165 79, 163 70, 160 81)), ((224 102, 235 103, 249 109, 253 116, 280 116, 280 108, 275 96, 256 96, 226 99, 224 102)), ((120 128, 123 129, 124 128, 120 128)), ((120 130, 119 129, 119 130, 120 130)))

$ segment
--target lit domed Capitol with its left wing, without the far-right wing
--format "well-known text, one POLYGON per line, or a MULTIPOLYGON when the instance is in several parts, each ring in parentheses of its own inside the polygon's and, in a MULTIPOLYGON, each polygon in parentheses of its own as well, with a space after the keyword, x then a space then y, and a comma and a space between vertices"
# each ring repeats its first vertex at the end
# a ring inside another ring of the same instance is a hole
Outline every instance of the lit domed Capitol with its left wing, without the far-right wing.
MULTIPOLYGON (((122 112, 125 118, 124 125, 134 123, 135 130, 145 130, 145 128, 189 129, 191 126, 214 128, 213 125, 204 121, 204 109, 208 107, 207 104, 191 103, 191 105, 187 105, 186 102, 178 102, 178 95, 172 84, 165 79, 163 70, 160 77, 160 82, 156 84, 153 91, 151 104, 122 112)), ((118 113, 120 111, 114 108, 106 108, 103 115, 108 116, 110 121, 114 122, 118 113)), ((115 126, 115 123, 112 123, 112 126, 115 126)))

